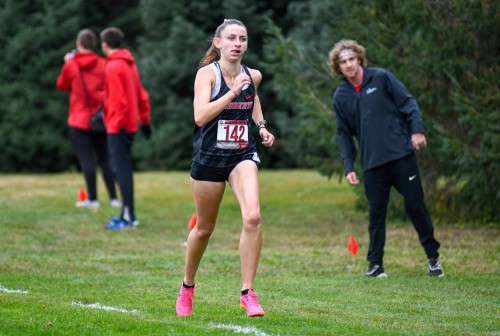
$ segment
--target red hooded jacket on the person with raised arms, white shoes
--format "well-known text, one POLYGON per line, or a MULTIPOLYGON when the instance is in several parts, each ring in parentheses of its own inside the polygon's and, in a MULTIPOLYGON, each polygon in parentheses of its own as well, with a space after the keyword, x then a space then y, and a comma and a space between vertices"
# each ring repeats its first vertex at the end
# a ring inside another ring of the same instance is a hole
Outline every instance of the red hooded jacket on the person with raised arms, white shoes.
POLYGON ((104 101, 105 66, 106 60, 93 52, 77 52, 64 64, 56 85, 60 91, 70 92, 68 126, 90 130, 90 115, 104 101))

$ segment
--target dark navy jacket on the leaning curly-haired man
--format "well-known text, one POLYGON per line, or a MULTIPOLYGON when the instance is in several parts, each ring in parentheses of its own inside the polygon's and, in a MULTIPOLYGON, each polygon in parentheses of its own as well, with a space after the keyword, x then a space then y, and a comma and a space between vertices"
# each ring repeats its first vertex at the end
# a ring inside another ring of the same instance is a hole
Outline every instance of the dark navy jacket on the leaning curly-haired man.
POLYGON ((388 70, 363 68, 359 93, 344 79, 333 95, 337 137, 345 173, 354 171, 359 141, 363 171, 413 151, 411 135, 424 133, 417 102, 388 70))

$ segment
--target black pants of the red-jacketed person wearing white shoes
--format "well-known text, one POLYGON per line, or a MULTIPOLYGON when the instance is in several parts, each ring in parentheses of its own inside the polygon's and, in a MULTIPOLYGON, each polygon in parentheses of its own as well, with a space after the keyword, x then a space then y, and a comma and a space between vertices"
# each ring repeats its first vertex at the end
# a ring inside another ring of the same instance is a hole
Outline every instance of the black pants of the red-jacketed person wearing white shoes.
POLYGON ((69 139, 82 170, 89 200, 97 200, 96 165, 94 153, 110 199, 116 198, 115 179, 109 163, 106 133, 93 133, 79 128, 69 128, 69 139))

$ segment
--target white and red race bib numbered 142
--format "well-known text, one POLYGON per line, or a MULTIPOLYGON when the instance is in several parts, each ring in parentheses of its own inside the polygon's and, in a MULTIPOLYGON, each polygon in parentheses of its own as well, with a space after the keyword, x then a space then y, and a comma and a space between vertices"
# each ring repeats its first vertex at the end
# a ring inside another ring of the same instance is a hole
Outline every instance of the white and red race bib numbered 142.
POLYGON ((219 120, 215 147, 221 149, 243 149, 248 147, 247 121, 219 120))

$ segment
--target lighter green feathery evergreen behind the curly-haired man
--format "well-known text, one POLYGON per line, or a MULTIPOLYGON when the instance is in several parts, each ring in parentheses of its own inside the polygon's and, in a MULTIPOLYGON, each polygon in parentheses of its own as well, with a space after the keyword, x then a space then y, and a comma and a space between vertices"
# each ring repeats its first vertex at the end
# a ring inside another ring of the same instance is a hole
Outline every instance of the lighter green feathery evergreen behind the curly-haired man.
POLYGON ((266 43, 273 86, 293 111, 283 121, 294 125, 286 148, 305 152, 304 161, 326 175, 342 176, 331 119, 340 79, 326 62, 335 42, 355 39, 370 66, 389 68, 421 107, 429 147, 419 159, 435 215, 497 220, 500 42, 491 32, 500 31, 499 9, 498 2, 472 0, 291 2, 295 28, 286 35, 271 28, 266 43))

